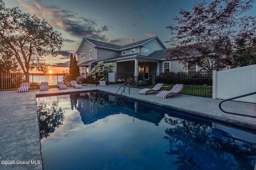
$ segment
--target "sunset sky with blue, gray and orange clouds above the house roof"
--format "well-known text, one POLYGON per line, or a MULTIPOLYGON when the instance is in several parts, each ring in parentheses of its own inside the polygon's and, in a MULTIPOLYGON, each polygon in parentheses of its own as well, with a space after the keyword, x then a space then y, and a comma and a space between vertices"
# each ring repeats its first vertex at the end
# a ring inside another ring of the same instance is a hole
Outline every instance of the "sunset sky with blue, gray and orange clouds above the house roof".
MULTIPOLYGON (((83 37, 124 45, 153 36, 171 38, 165 27, 176 24, 180 8, 191 11, 196 0, 4 0, 6 7, 47 20, 64 39, 58 57, 46 58, 54 73, 69 71, 70 55, 83 37)), ((212 2, 206 0, 206 2, 212 2)), ((248 13, 255 16, 256 5, 248 13)), ((165 43, 169 47, 168 43, 165 43)))

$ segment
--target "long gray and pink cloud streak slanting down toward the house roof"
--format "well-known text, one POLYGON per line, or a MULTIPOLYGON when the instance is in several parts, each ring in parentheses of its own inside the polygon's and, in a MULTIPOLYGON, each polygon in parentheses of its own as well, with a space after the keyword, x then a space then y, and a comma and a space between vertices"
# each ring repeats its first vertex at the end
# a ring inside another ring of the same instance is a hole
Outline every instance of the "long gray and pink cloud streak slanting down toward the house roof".
POLYGON ((107 25, 99 26, 94 18, 85 18, 71 10, 62 10, 58 6, 43 4, 42 0, 33 0, 32 5, 26 1, 18 2, 27 10, 40 19, 46 19, 51 25, 55 25, 74 37, 89 37, 100 41, 107 41, 108 38, 103 34, 108 31, 107 25))

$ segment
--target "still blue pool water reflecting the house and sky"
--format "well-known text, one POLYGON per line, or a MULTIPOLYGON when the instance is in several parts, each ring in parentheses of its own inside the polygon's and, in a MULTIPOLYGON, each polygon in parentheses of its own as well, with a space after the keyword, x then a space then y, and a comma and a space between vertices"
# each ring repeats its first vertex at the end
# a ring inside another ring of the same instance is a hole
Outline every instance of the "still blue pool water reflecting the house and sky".
POLYGON ((254 170, 256 133, 99 92, 37 98, 44 170, 254 170))

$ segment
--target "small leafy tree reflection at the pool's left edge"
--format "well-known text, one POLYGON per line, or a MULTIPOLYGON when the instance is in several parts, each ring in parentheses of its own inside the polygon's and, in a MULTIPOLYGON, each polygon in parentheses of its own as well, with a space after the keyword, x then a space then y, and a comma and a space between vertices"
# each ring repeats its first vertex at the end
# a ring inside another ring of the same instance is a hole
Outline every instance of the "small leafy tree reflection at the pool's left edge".
POLYGON ((47 104, 40 104, 37 112, 41 139, 50 136, 56 127, 63 124, 64 111, 62 111, 61 107, 58 107, 58 102, 52 102, 50 108, 47 108, 47 104))

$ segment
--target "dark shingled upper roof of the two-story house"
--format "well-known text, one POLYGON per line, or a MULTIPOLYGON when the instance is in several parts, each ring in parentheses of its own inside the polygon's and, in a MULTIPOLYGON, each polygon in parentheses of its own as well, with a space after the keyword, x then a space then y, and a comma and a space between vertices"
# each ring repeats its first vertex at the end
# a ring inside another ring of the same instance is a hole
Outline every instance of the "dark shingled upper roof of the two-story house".
POLYGON ((137 41, 137 42, 134 42, 134 43, 130 43, 130 44, 127 44, 127 45, 122 45, 122 46, 111 44, 111 43, 105 43, 105 42, 97 41, 97 40, 94 40, 94 39, 83 38, 83 40, 80 43, 78 49, 76 50, 76 53, 78 53, 78 51, 82 48, 82 45, 84 44, 85 41, 94 45, 95 48, 110 49, 110 50, 114 50, 114 51, 123 51, 123 50, 130 49, 130 48, 143 47, 145 43, 147 43, 147 42, 149 42, 153 39, 157 39, 158 42, 162 45, 162 47, 164 47, 164 49, 166 49, 166 46, 164 45, 164 43, 160 40, 160 38, 158 36, 151 37, 151 38, 148 38, 148 39, 144 39, 144 40, 141 40, 141 41, 137 41))

